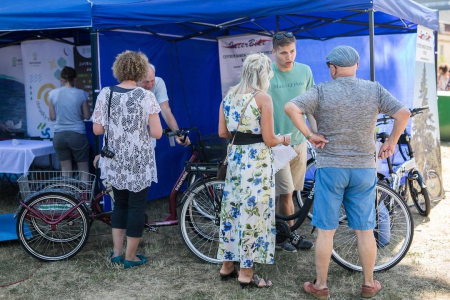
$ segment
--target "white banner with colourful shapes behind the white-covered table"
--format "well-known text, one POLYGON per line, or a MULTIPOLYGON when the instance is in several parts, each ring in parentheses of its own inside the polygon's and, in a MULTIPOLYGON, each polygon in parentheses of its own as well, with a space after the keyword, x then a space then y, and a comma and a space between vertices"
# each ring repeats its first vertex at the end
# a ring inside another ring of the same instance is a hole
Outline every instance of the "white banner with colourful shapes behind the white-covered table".
POLYGON ((61 69, 65 65, 73 67, 73 46, 53 40, 31 40, 21 43, 21 53, 28 135, 52 137, 48 92, 61 86, 61 69))

